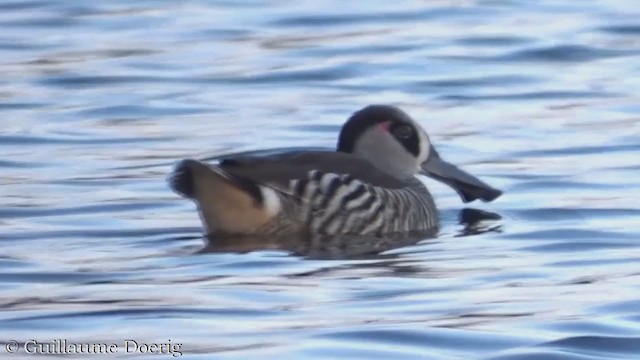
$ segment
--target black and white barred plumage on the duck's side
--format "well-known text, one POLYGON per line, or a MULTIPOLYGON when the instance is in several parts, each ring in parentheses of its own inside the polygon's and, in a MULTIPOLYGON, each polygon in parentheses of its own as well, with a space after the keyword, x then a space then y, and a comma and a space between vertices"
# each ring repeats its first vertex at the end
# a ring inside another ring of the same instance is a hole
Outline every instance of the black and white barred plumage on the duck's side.
POLYGON ((282 198, 288 204, 282 221, 307 223, 312 233, 381 235, 427 230, 438 221, 433 198, 417 179, 387 189, 349 174, 311 171, 306 178, 291 180, 288 190, 282 198))

